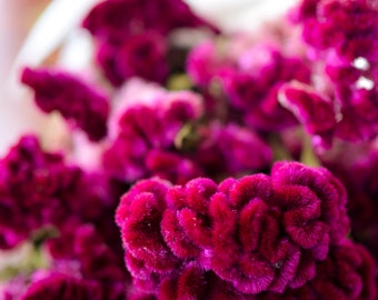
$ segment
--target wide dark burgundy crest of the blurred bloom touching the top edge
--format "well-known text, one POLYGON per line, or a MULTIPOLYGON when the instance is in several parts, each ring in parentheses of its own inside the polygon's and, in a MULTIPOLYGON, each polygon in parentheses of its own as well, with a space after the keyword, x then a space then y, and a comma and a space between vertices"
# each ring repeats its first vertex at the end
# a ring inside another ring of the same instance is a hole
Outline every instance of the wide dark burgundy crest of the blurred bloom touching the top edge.
POLYGON ((82 22, 97 39, 117 43, 145 30, 167 34, 186 27, 216 28, 197 17, 181 0, 107 0, 89 12, 82 22))

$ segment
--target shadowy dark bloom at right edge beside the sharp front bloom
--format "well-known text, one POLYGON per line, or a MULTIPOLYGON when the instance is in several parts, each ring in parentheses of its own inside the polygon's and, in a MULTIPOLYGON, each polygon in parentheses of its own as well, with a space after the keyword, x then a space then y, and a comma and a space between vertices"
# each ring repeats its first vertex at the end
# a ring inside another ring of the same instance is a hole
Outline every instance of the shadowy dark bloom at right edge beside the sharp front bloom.
POLYGON ((350 236, 378 257, 378 150, 375 143, 341 144, 322 158, 322 163, 338 177, 348 191, 350 236))

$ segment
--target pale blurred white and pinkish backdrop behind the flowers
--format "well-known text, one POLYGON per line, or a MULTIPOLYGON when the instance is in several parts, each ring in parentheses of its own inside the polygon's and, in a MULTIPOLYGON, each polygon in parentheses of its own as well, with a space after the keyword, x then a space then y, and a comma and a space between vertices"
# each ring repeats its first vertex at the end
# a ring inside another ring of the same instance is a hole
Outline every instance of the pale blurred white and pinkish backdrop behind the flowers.
MULTIPOLYGON (((0 0, 0 156, 46 119, 18 86, 20 66, 36 66, 66 42, 81 16, 99 0, 0 0)), ((252 30, 296 0, 186 0, 226 31, 252 30)))

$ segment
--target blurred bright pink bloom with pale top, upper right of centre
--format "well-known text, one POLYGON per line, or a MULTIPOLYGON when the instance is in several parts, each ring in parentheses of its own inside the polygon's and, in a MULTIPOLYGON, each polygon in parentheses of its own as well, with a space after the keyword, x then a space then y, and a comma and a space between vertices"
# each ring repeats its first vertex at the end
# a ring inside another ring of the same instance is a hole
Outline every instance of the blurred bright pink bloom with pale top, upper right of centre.
MULTIPOLYGON (((232 39, 223 50, 232 52, 232 39)), ((229 110, 251 128, 271 131, 296 124, 296 119, 278 102, 279 87, 290 80, 309 82, 310 70, 299 57, 287 56, 273 43, 252 44, 239 56, 219 54, 210 42, 195 48, 187 70, 201 87, 219 82, 229 110)))

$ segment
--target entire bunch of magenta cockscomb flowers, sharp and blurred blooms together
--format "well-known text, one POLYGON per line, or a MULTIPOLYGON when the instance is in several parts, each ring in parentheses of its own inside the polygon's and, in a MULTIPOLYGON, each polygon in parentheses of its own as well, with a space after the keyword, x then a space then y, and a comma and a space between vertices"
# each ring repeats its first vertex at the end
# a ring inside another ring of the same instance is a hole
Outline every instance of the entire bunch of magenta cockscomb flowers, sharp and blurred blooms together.
POLYGON ((0 299, 378 298, 375 1, 229 34, 105 0, 81 26, 88 70, 21 73, 69 134, 0 158, 0 299))

